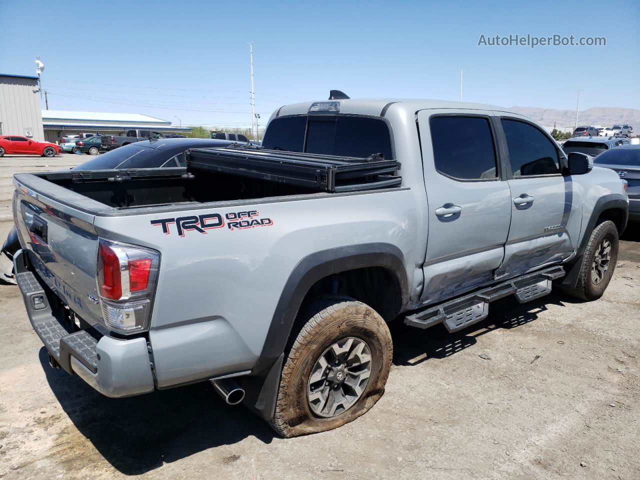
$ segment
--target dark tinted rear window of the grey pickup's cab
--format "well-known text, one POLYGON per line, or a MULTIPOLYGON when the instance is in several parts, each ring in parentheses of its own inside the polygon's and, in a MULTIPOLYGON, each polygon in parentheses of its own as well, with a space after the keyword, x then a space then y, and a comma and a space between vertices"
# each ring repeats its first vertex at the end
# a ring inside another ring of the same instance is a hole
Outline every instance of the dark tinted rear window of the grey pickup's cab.
POLYGON ((296 115, 275 118, 262 140, 269 150, 288 150, 342 157, 394 157, 384 120, 367 116, 296 115))

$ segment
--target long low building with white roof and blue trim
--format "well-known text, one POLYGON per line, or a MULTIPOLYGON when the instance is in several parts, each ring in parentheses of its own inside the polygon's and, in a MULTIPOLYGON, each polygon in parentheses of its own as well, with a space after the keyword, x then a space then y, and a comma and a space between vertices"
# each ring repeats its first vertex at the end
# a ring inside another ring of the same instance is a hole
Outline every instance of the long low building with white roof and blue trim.
POLYGON ((160 133, 191 132, 189 127, 173 127, 167 120, 141 113, 42 110, 42 125, 48 141, 81 132, 114 135, 141 128, 160 133))

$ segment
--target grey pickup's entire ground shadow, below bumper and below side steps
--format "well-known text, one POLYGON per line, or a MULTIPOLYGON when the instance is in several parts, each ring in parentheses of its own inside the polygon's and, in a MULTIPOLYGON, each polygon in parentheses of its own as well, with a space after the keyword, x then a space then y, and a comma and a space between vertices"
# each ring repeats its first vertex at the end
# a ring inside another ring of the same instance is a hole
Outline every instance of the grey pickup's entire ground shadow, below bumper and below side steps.
MULTIPOLYGON (((419 330, 397 319, 391 329, 394 364, 415 365, 430 358, 446 358, 476 344, 479 335, 533 321, 549 303, 564 305, 572 301, 556 294, 524 305, 509 299, 496 301, 486 320, 456 333, 448 333, 442 325, 419 330), (412 362, 416 356, 424 358, 412 362)), ((277 438, 266 422, 248 409, 224 403, 208 382, 111 399, 95 392, 79 377, 49 367, 45 348, 40 350, 40 363, 74 426, 125 475, 144 474, 163 463, 250 436, 265 444, 277 438)), ((237 460, 214 451, 212 463, 216 457, 221 463, 237 460)))

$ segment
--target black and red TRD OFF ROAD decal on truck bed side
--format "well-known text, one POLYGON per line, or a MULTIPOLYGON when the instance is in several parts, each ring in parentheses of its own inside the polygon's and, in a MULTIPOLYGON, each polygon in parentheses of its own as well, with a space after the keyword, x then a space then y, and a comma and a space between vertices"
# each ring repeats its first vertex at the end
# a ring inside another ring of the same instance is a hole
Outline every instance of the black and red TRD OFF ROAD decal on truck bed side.
POLYGON ((223 217, 219 213, 211 213, 198 216, 187 216, 177 218, 161 218, 160 220, 151 220, 151 225, 160 225, 165 235, 170 235, 172 225, 175 225, 175 231, 180 237, 188 230, 195 230, 201 234, 206 234, 207 230, 213 228, 224 228, 228 230, 244 230, 253 227, 271 227, 273 220, 271 218, 257 218, 258 212, 249 210, 244 212, 229 212, 223 217))

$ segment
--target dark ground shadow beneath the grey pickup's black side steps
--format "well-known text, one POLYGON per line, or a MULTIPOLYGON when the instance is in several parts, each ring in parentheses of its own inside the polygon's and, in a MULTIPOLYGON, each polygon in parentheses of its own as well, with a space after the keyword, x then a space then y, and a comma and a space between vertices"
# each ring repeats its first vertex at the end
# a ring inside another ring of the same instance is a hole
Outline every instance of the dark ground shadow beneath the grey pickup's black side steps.
POLYGON ((420 330, 404 325, 403 319, 396 319, 391 328, 394 364, 417 365, 431 358, 446 358, 474 346, 481 335, 534 321, 541 312, 547 310, 547 305, 564 307, 577 302, 578 300, 556 292, 523 304, 518 303, 515 298, 507 297, 491 304, 486 319, 454 333, 447 332, 443 324, 420 330))

